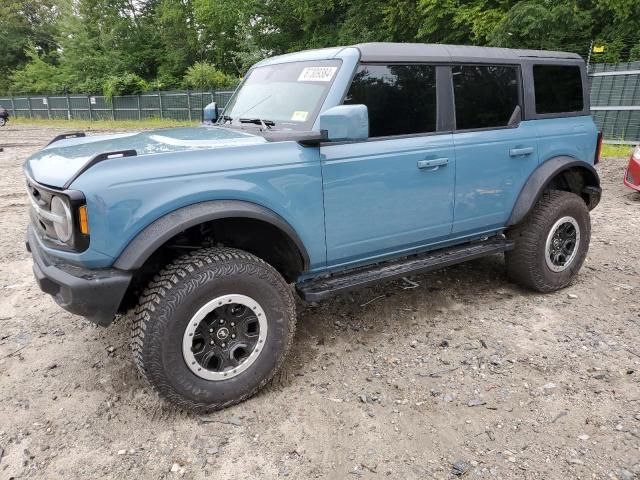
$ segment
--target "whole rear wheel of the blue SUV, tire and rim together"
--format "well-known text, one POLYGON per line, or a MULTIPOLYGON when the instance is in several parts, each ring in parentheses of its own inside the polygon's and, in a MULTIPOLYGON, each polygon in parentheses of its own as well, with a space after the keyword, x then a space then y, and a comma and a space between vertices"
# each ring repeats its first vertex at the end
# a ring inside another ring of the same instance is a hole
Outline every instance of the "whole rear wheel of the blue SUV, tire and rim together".
POLYGON ((515 243, 505 253, 509 276, 540 292, 558 290, 573 281, 587 256, 589 210, 578 195, 549 190, 507 236, 515 243))

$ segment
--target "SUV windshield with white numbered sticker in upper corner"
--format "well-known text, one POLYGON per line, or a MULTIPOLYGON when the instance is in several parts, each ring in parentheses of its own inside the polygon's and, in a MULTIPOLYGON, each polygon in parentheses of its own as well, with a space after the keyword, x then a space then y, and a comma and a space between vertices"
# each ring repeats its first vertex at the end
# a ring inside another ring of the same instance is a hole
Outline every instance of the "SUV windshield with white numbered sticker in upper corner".
POLYGON ((275 128, 310 130, 340 63, 317 60, 254 68, 229 100, 220 122, 255 121, 275 128))

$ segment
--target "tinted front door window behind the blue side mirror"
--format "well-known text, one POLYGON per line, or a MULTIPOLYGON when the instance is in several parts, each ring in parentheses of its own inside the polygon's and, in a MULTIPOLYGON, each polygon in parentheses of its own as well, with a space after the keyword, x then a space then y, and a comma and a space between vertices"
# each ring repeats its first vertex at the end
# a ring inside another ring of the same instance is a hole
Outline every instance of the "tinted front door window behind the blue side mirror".
POLYGON ((436 130, 436 74, 432 65, 361 65, 345 105, 369 110, 369 137, 436 130))

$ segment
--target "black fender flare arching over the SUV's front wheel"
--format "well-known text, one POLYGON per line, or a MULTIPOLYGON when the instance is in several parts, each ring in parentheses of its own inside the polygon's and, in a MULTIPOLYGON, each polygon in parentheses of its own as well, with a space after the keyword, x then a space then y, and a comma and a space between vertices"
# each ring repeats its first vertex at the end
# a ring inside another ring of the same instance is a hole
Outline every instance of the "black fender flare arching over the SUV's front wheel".
POLYGON ((122 251, 113 264, 120 270, 137 270, 165 242, 180 232, 221 218, 251 218, 282 230, 294 242, 305 270, 309 254, 293 227, 280 215, 261 205, 240 200, 212 200, 178 208, 145 227, 122 251))

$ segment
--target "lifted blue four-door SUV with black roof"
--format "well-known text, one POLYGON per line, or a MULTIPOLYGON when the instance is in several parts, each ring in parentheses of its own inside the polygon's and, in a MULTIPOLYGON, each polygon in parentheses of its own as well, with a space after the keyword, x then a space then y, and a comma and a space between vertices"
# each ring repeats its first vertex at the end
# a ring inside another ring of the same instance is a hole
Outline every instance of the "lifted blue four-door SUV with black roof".
POLYGON ((196 411, 253 395, 305 300, 504 252, 568 285, 600 200, 571 53, 370 43, 263 60, 199 127, 71 133, 27 159, 41 289, 196 411), (291 285, 295 286, 292 288, 291 285))

